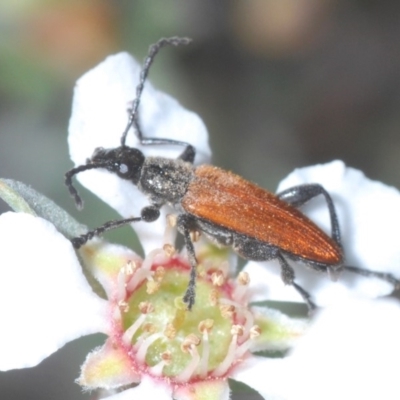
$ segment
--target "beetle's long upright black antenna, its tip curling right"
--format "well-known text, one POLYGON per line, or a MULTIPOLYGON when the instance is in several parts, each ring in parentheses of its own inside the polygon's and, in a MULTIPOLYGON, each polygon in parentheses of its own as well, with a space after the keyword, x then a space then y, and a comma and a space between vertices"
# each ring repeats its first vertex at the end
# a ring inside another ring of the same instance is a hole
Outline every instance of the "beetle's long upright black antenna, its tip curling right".
POLYGON ((155 56, 164 46, 167 46, 167 45, 180 46, 181 44, 186 45, 186 44, 189 44, 191 41, 192 41, 191 39, 186 38, 186 37, 173 36, 170 38, 162 38, 157 43, 150 46, 149 52, 143 62, 143 67, 140 72, 139 84, 136 86, 136 98, 132 102, 132 108, 130 109, 128 124, 126 125, 126 128, 121 136, 121 146, 126 146, 126 144, 125 144, 126 136, 128 134, 129 129, 132 126, 135 128, 136 136, 138 137, 138 139, 141 141, 143 138, 143 134, 140 129, 139 121, 138 121, 138 108, 139 108, 144 84, 146 82, 147 76, 149 75, 149 70, 150 70, 151 64, 154 61, 155 56))

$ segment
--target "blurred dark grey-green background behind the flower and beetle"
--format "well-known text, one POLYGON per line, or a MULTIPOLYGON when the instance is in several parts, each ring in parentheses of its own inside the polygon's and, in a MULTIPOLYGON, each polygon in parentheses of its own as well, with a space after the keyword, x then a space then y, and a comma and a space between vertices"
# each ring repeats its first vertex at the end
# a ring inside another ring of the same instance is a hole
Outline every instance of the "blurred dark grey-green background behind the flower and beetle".
MULTIPOLYGON (((342 159, 399 186, 399 17, 389 0, 4 0, 0 176, 91 227, 116 218, 84 190, 78 213, 63 184, 74 82, 110 53, 141 60, 160 37, 181 35, 193 44, 163 51, 151 79, 201 115, 214 164, 275 190, 296 167, 342 159)), ((133 240, 128 228, 109 237, 133 240)), ((0 373, 0 397, 90 399, 73 380, 101 343, 0 373)))

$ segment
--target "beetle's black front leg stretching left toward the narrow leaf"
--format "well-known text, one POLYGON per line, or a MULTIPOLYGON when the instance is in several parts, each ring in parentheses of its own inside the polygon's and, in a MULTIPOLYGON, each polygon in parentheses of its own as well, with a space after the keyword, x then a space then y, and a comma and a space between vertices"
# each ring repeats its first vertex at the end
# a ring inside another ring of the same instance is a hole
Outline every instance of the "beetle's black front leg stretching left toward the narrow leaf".
POLYGON ((125 218, 125 219, 117 219, 113 221, 108 221, 105 224, 99 226, 96 229, 93 229, 89 232, 84 233, 83 235, 77 236, 71 239, 72 245, 75 249, 79 249, 85 243, 87 243, 90 239, 94 238, 95 236, 99 236, 104 232, 111 231, 113 229, 119 228, 121 226, 130 224, 132 222, 153 222, 160 216, 160 206, 158 205, 151 205, 148 207, 142 208, 140 217, 132 217, 132 218, 125 218))

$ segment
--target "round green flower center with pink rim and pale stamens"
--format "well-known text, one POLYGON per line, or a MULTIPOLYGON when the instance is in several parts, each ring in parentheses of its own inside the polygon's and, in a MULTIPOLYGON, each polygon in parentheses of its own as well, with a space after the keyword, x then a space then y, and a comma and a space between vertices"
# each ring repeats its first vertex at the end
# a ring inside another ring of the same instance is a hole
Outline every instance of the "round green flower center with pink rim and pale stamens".
POLYGON ((217 378, 247 352, 257 331, 240 302, 248 280, 236 283, 222 269, 199 265, 196 302, 188 311, 182 298, 189 273, 182 258, 163 250, 121 272, 116 336, 137 371, 176 383, 217 378))

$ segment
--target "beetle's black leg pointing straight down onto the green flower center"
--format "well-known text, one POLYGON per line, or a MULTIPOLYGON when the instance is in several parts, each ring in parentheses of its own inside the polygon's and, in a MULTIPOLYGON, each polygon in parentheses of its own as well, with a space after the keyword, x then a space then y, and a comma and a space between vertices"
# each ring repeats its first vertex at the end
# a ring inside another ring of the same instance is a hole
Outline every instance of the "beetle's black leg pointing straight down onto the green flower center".
POLYGON ((193 218, 191 218, 190 216, 186 214, 181 214, 178 216, 177 227, 179 232, 182 233, 183 235, 183 240, 185 243, 191 268, 188 287, 183 296, 183 301, 188 305, 189 310, 192 309, 196 298, 197 259, 196 259, 196 253, 194 251, 193 242, 190 237, 190 232, 193 229, 193 225, 194 221, 193 218))

